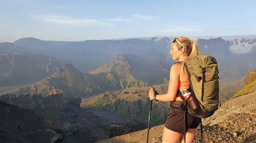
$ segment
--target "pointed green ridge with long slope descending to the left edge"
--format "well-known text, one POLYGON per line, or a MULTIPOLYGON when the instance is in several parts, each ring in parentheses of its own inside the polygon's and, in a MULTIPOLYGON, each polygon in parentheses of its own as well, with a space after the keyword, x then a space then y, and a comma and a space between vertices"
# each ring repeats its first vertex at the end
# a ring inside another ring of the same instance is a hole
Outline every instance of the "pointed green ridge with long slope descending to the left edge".
POLYGON ((65 96, 88 96, 101 91, 101 88, 88 79, 86 74, 79 72, 72 64, 65 64, 63 69, 59 69, 51 76, 31 84, 29 87, 17 88, 7 93, 40 93, 44 96, 63 93, 65 96))

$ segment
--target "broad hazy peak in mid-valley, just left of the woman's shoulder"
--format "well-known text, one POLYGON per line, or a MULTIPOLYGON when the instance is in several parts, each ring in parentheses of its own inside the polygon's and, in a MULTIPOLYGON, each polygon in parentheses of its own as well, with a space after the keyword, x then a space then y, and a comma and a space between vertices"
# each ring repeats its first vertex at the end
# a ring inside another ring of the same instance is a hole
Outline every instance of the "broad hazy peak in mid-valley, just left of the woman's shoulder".
POLYGON ((162 65, 162 61, 159 61, 160 56, 152 57, 149 59, 132 54, 118 55, 89 73, 107 81, 112 89, 146 87, 168 82, 169 71, 162 65))

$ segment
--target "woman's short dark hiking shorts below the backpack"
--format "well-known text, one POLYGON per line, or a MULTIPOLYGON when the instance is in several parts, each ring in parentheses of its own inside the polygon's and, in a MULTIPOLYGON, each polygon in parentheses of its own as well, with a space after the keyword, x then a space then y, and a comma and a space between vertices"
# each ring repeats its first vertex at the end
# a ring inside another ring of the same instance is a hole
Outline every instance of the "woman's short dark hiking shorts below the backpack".
MULTIPOLYGON (((187 114, 186 112, 186 132, 188 129, 195 129, 201 123, 201 118, 187 114)), ((170 108, 167 115, 165 127, 171 131, 184 133, 184 112, 175 111, 170 108)))

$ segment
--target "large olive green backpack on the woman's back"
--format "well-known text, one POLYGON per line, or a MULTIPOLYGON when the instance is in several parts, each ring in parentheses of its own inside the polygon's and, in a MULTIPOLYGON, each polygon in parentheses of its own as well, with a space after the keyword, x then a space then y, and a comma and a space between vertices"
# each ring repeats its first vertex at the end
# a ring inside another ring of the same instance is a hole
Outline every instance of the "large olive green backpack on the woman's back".
POLYGON ((198 100, 201 109, 192 110, 187 106, 190 115, 206 118, 212 116, 219 105, 218 65, 214 57, 198 55, 185 64, 189 76, 189 87, 198 100))

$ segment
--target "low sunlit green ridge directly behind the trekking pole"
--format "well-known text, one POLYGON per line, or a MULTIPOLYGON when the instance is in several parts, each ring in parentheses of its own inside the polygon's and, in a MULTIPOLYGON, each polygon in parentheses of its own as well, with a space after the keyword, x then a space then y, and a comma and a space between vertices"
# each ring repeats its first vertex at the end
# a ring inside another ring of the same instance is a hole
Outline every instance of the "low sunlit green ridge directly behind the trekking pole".
MULTIPOLYGON (((154 86, 159 94, 167 92, 168 85, 155 85, 154 86)), ((117 115, 143 119, 148 118, 149 87, 141 88, 128 88, 117 92, 107 92, 98 95, 95 99, 87 101, 82 100, 81 108, 88 110, 109 111, 117 115)), ((152 108, 152 121, 157 124, 165 122, 169 103, 167 102, 154 102, 152 108)))

